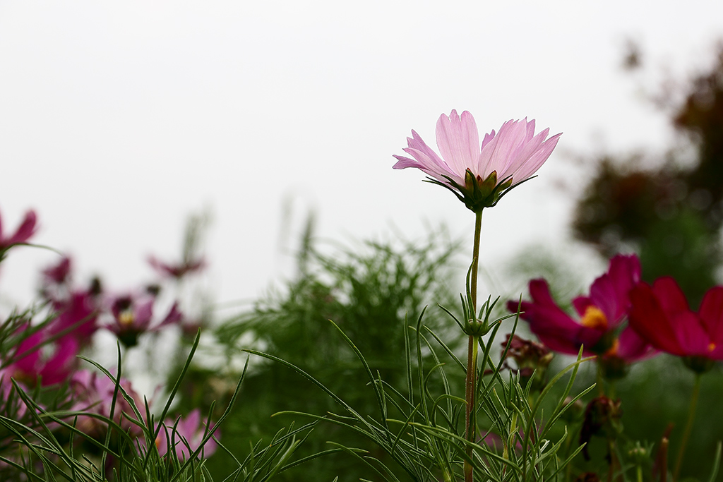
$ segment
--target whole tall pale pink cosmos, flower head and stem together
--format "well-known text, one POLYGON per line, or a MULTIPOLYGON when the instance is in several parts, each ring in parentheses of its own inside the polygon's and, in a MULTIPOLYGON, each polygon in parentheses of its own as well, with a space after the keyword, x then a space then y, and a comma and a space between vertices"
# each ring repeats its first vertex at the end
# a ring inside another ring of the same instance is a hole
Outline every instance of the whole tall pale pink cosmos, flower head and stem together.
MULTIPOLYGON (((547 139, 549 129, 535 135, 535 121, 507 121, 499 132, 485 134, 479 142, 474 117, 468 111, 461 116, 452 111, 437 120, 437 147, 441 156, 432 150, 416 132, 407 138, 404 149, 411 158, 395 155, 395 169, 418 168, 429 177, 428 182, 438 184, 455 194, 474 212, 474 246, 467 284, 468 298, 463 306, 466 319, 463 331, 469 335, 467 373, 465 381, 466 448, 464 478, 474 481, 471 465, 472 447, 476 442, 476 378, 479 337, 489 331, 488 316, 479 320, 477 314, 477 269, 479 267, 479 240, 482 233, 482 210, 497 205, 511 189, 527 181, 552 154, 561 134, 547 139)), ((487 306, 487 311, 491 306, 487 306)))

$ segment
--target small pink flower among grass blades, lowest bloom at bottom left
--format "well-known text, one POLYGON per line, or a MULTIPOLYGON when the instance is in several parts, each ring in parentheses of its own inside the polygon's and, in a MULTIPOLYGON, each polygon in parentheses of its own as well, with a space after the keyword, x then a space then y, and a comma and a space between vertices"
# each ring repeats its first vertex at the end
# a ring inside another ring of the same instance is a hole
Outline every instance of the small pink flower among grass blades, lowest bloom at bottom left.
MULTIPOLYGON (((213 426, 211 427, 213 429, 213 426)), ((158 447, 158 454, 165 455, 168 449, 173 447, 179 460, 188 460, 190 455, 201 446, 206 431, 205 423, 201 420, 201 411, 195 408, 185 418, 179 417, 176 421, 167 419, 158 432, 155 439, 155 446, 158 447), (175 430, 174 430, 175 426, 175 430), (171 443, 168 444, 168 435, 171 436, 171 443)), ((215 429, 213 436, 217 439, 221 437, 221 432, 215 429)), ((203 446, 202 457, 210 457, 215 452, 215 440, 208 439, 203 446)))

